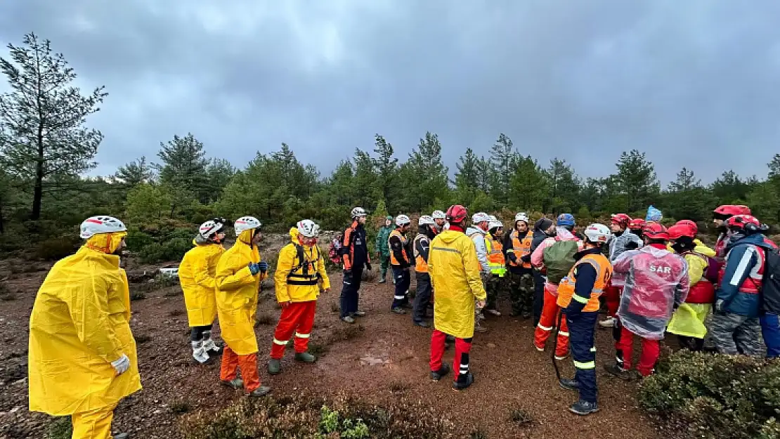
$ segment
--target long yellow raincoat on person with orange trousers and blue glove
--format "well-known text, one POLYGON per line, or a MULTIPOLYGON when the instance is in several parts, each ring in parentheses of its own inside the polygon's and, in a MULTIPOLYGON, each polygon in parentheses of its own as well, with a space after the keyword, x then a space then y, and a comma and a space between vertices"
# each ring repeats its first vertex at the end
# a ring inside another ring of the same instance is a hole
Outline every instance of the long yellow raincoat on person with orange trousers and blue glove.
POLYGON ((236 244, 217 263, 217 313, 222 340, 238 355, 257 352, 254 315, 257 292, 266 274, 252 275, 250 262, 260 262, 260 251, 252 246, 253 230, 244 230, 236 244))

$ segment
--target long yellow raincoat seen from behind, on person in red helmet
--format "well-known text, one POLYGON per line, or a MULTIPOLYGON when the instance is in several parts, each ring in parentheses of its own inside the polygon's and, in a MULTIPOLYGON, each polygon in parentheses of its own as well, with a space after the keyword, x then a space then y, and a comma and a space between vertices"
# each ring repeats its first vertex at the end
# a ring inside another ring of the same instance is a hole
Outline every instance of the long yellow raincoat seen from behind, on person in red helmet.
POLYGON ((436 290, 434 327, 456 338, 472 338, 474 299, 487 298, 473 241, 455 230, 436 235, 428 253, 428 274, 436 290))

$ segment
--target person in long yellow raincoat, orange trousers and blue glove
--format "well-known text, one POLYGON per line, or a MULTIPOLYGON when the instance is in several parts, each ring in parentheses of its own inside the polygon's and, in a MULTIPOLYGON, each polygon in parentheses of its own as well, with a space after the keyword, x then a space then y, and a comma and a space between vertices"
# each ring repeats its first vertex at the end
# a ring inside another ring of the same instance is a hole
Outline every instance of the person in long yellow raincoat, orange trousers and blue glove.
POLYGON ((268 263, 261 260, 257 250, 262 237, 260 226, 257 218, 248 216, 233 223, 236 244, 219 258, 216 274, 217 314, 225 341, 220 379, 222 384, 235 389, 243 387, 250 396, 257 397, 271 391, 260 384, 254 335, 257 293, 268 274, 268 263))

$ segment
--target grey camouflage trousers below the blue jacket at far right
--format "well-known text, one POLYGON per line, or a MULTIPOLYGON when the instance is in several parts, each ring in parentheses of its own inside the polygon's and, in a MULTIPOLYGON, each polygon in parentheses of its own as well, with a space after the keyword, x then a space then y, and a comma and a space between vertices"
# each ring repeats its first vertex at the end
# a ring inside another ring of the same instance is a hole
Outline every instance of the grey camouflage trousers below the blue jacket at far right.
POLYGON ((757 318, 733 313, 715 313, 710 331, 718 352, 730 355, 763 355, 764 338, 757 318))

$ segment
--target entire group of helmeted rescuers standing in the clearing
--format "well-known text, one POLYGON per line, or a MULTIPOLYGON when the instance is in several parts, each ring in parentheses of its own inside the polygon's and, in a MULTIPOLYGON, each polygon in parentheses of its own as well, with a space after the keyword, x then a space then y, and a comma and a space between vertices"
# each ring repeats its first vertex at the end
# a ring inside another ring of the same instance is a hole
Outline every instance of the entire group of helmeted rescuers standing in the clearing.
MULTIPOLYGON (((363 269, 371 270, 366 216, 362 208, 353 209, 336 249, 344 271, 340 317, 348 324, 365 315, 358 305, 363 269)), ((767 228, 746 206, 714 210, 720 231, 714 250, 697 239, 696 223, 683 220, 665 228, 655 210, 645 220, 615 214, 609 227, 592 224, 582 233, 571 214, 555 222, 541 218, 529 230, 527 215, 519 213, 507 235, 491 215, 473 214, 470 226, 467 220, 466 207, 453 205, 446 213, 420 217, 413 239, 407 235, 411 221, 406 215, 388 217, 378 235, 380 281, 392 269, 395 284, 392 312, 403 314, 412 307, 413 323, 430 327, 426 314, 432 303, 433 381, 455 370, 453 388, 473 384, 475 328, 481 327, 483 312, 501 315, 496 303, 503 289, 509 289, 513 315, 534 315, 536 349, 544 351, 557 328, 555 359, 566 359, 570 352, 576 369, 573 379, 559 378, 559 384, 579 392, 569 409, 580 415, 598 410, 594 331, 602 301, 608 318, 599 324, 613 328, 616 349, 616 362, 606 369, 624 380, 637 374, 632 371, 633 339, 642 343, 636 371, 647 377, 666 332, 678 335, 689 349, 707 349, 711 338, 718 352, 761 355, 765 349, 767 356, 780 356, 780 289, 767 282, 780 278, 780 256, 764 235, 767 228), (411 269, 417 278, 413 304, 411 269), (452 368, 442 361, 448 341, 455 343, 452 368)), ((260 397, 271 391, 261 385, 254 332, 258 291, 269 268, 258 250, 261 222, 251 216, 237 219, 232 223, 236 243, 225 250, 229 227, 225 218, 200 225, 193 249, 179 266, 192 358, 210 363, 221 356, 222 384, 260 397), (211 337, 216 317, 224 346, 211 337)), ((282 371, 291 339, 296 361, 316 360, 307 352, 316 302, 331 287, 319 234, 314 221, 299 221, 279 252, 274 281, 282 313, 269 341, 269 374, 282 371)), ((30 410, 71 416, 77 439, 129 437, 112 436, 113 411, 141 388, 129 326, 129 284, 119 267, 126 235, 117 218, 83 221, 83 246, 51 268, 30 315, 30 410)))

